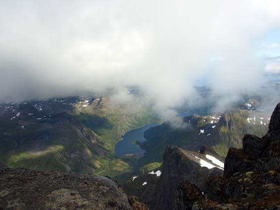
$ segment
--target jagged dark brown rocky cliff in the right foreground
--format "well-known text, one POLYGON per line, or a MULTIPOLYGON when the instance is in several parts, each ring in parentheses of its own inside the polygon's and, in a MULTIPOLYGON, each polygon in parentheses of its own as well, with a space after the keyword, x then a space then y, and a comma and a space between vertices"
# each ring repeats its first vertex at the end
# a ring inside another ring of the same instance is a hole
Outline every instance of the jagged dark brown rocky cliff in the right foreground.
POLYGON ((242 149, 229 150, 224 176, 208 179, 205 197, 195 187, 181 187, 180 193, 185 210, 279 210, 280 104, 265 136, 245 135, 242 149))

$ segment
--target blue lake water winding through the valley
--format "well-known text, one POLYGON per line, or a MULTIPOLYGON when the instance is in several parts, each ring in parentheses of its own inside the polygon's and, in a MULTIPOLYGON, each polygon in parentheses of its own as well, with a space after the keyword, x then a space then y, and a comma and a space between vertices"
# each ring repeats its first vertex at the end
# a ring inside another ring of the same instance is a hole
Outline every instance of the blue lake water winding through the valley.
MULTIPOLYGON (((188 115, 191 115, 190 112, 184 112, 179 113, 178 117, 186 117, 188 115)), ((147 139, 144 138, 144 133, 146 130, 148 130, 150 127, 158 126, 160 124, 154 123, 150 125, 146 125, 134 130, 130 130, 126 132, 122 136, 122 140, 119 141, 115 146, 115 153, 118 157, 121 157, 123 155, 127 154, 133 154, 133 155, 142 155, 145 153, 145 150, 142 150, 139 145, 136 145, 135 142, 144 142, 147 141, 147 139)))

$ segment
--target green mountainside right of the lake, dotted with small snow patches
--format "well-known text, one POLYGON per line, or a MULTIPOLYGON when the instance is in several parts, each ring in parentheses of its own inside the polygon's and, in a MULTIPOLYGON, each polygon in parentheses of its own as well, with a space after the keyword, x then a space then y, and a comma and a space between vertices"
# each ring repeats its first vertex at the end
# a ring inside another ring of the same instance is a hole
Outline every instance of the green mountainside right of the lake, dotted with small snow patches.
POLYGON ((164 123, 147 130, 144 135, 147 141, 140 144, 147 153, 139 164, 161 162, 165 147, 170 144, 193 151, 207 145, 225 157, 230 147, 242 146, 240 139, 245 133, 264 135, 270 116, 263 112, 233 109, 221 116, 191 115, 183 120, 186 123, 183 128, 164 123))

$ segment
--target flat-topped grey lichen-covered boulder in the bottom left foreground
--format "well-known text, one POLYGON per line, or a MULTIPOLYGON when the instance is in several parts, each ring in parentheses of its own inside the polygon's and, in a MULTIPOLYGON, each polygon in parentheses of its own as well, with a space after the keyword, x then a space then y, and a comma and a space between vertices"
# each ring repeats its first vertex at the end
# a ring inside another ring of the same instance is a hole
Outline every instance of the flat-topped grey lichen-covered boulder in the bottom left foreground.
POLYGON ((23 168, 0 169, 0 209, 132 210, 118 184, 107 177, 23 168))

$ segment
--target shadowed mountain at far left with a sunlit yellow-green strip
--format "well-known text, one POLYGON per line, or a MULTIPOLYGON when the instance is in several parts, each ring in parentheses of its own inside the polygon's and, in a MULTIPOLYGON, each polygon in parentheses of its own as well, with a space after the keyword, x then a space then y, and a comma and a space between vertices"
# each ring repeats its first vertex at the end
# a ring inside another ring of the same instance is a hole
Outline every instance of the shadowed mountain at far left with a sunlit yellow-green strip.
POLYGON ((95 144, 86 139, 69 121, 48 124, 31 124, 37 129, 11 131, 1 142, 1 158, 12 168, 38 170, 57 169, 92 173, 90 159, 97 156, 95 144), (18 138, 17 136, 20 136, 18 138), (12 145, 20 145, 12 147, 12 145))

